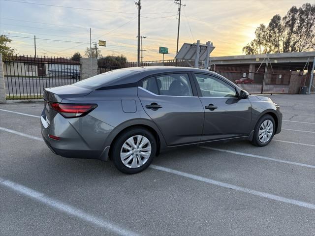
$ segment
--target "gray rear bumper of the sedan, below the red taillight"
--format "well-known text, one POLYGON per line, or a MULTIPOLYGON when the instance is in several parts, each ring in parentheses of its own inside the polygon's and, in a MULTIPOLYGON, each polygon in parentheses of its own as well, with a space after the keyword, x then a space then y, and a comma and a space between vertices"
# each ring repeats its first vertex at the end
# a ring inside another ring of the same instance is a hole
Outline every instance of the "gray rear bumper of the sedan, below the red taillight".
MULTIPOLYGON (((79 122, 82 122, 82 120, 79 122)), ((67 158, 99 159, 107 161, 110 147, 103 147, 103 145, 91 147, 92 145, 84 139, 82 134, 78 133, 75 125, 68 122, 68 119, 63 118, 61 115, 57 114, 52 121, 47 122, 46 116, 42 114, 40 123, 43 140, 48 148, 55 154, 67 158), (60 140, 49 138, 49 134, 60 137, 60 140)))

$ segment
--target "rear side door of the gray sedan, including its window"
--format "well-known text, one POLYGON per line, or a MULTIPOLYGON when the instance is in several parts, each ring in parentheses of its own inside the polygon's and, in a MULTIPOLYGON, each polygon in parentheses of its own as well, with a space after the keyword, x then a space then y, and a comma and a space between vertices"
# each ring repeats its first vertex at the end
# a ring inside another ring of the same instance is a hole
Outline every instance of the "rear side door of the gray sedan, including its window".
POLYGON ((189 73, 159 74, 139 83, 138 97, 168 146, 199 142, 204 110, 189 73))

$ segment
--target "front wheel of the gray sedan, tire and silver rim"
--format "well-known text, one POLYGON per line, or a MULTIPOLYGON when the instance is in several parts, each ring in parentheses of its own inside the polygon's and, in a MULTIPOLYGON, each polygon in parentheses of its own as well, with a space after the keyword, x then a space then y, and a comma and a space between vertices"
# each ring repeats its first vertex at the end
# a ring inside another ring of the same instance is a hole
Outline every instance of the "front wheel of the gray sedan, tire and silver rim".
POLYGON ((258 147, 268 145, 275 134, 275 120, 270 115, 261 117, 254 129, 252 144, 258 147))

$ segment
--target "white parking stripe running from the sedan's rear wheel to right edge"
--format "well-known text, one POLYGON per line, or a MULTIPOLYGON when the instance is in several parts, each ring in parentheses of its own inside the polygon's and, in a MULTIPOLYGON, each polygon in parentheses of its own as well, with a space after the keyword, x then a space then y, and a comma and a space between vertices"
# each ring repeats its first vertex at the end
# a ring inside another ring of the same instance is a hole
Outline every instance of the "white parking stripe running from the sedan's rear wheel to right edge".
POLYGON ((237 191, 240 191, 240 192, 249 193, 249 194, 252 194, 252 195, 259 196, 259 197, 268 198, 268 199, 272 199, 272 200, 275 200, 275 201, 296 205, 296 206, 299 206, 299 207, 306 207, 306 208, 309 208, 309 209, 315 209, 315 205, 311 204, 311 203, 305 203, 305 202, 297 201, 297 200, 294 200, 294 199, 284 198, 284 197, 280 197, 280 196, 277 196, 277 195, 273 195, 273 194, 269 194, 269 193, 265 193, 265 192, 260 192, 260 191, 256 191, 256 190, 252 190, 252 189, 249 189, 249 188, 243 188, 243 187, 236 186, 236 185, 233 185, 233 184, 224 183, 224 182, 220 182, 220 181, 217 181, 217 180, 214 180, 214 179, 192 175, 192 174, 189 174, 189 173, 186 173, 186 172, 176 171, 176 170, 169 169, 169 168, 162 167, 162 166, 151 165, 149 167, 152 168, 152 169, 159 170, 159 171, 171 173, 171 174, 182 176, 182 177, 188 177, 188 178, 191 178, 191 179, 194 179, 194 180, 198 180, 198 181, 201 181, 201 182, 210 183, 210 184, 217 185, 217 186, 224 187, 224 188, 228 188, 228 189, 234 189, 234 190, 237 190, 237 191))

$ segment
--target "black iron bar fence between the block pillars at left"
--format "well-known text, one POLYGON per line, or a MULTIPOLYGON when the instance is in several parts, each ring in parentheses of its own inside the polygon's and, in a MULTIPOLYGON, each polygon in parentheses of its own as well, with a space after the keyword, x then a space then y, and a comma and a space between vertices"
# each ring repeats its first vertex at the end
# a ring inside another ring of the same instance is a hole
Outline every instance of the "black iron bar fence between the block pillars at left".
POLYGON ((67 58, 12 56, 3 59, 6 99, 40 99, 43 90, 80 80, 80 62, 67 58))

